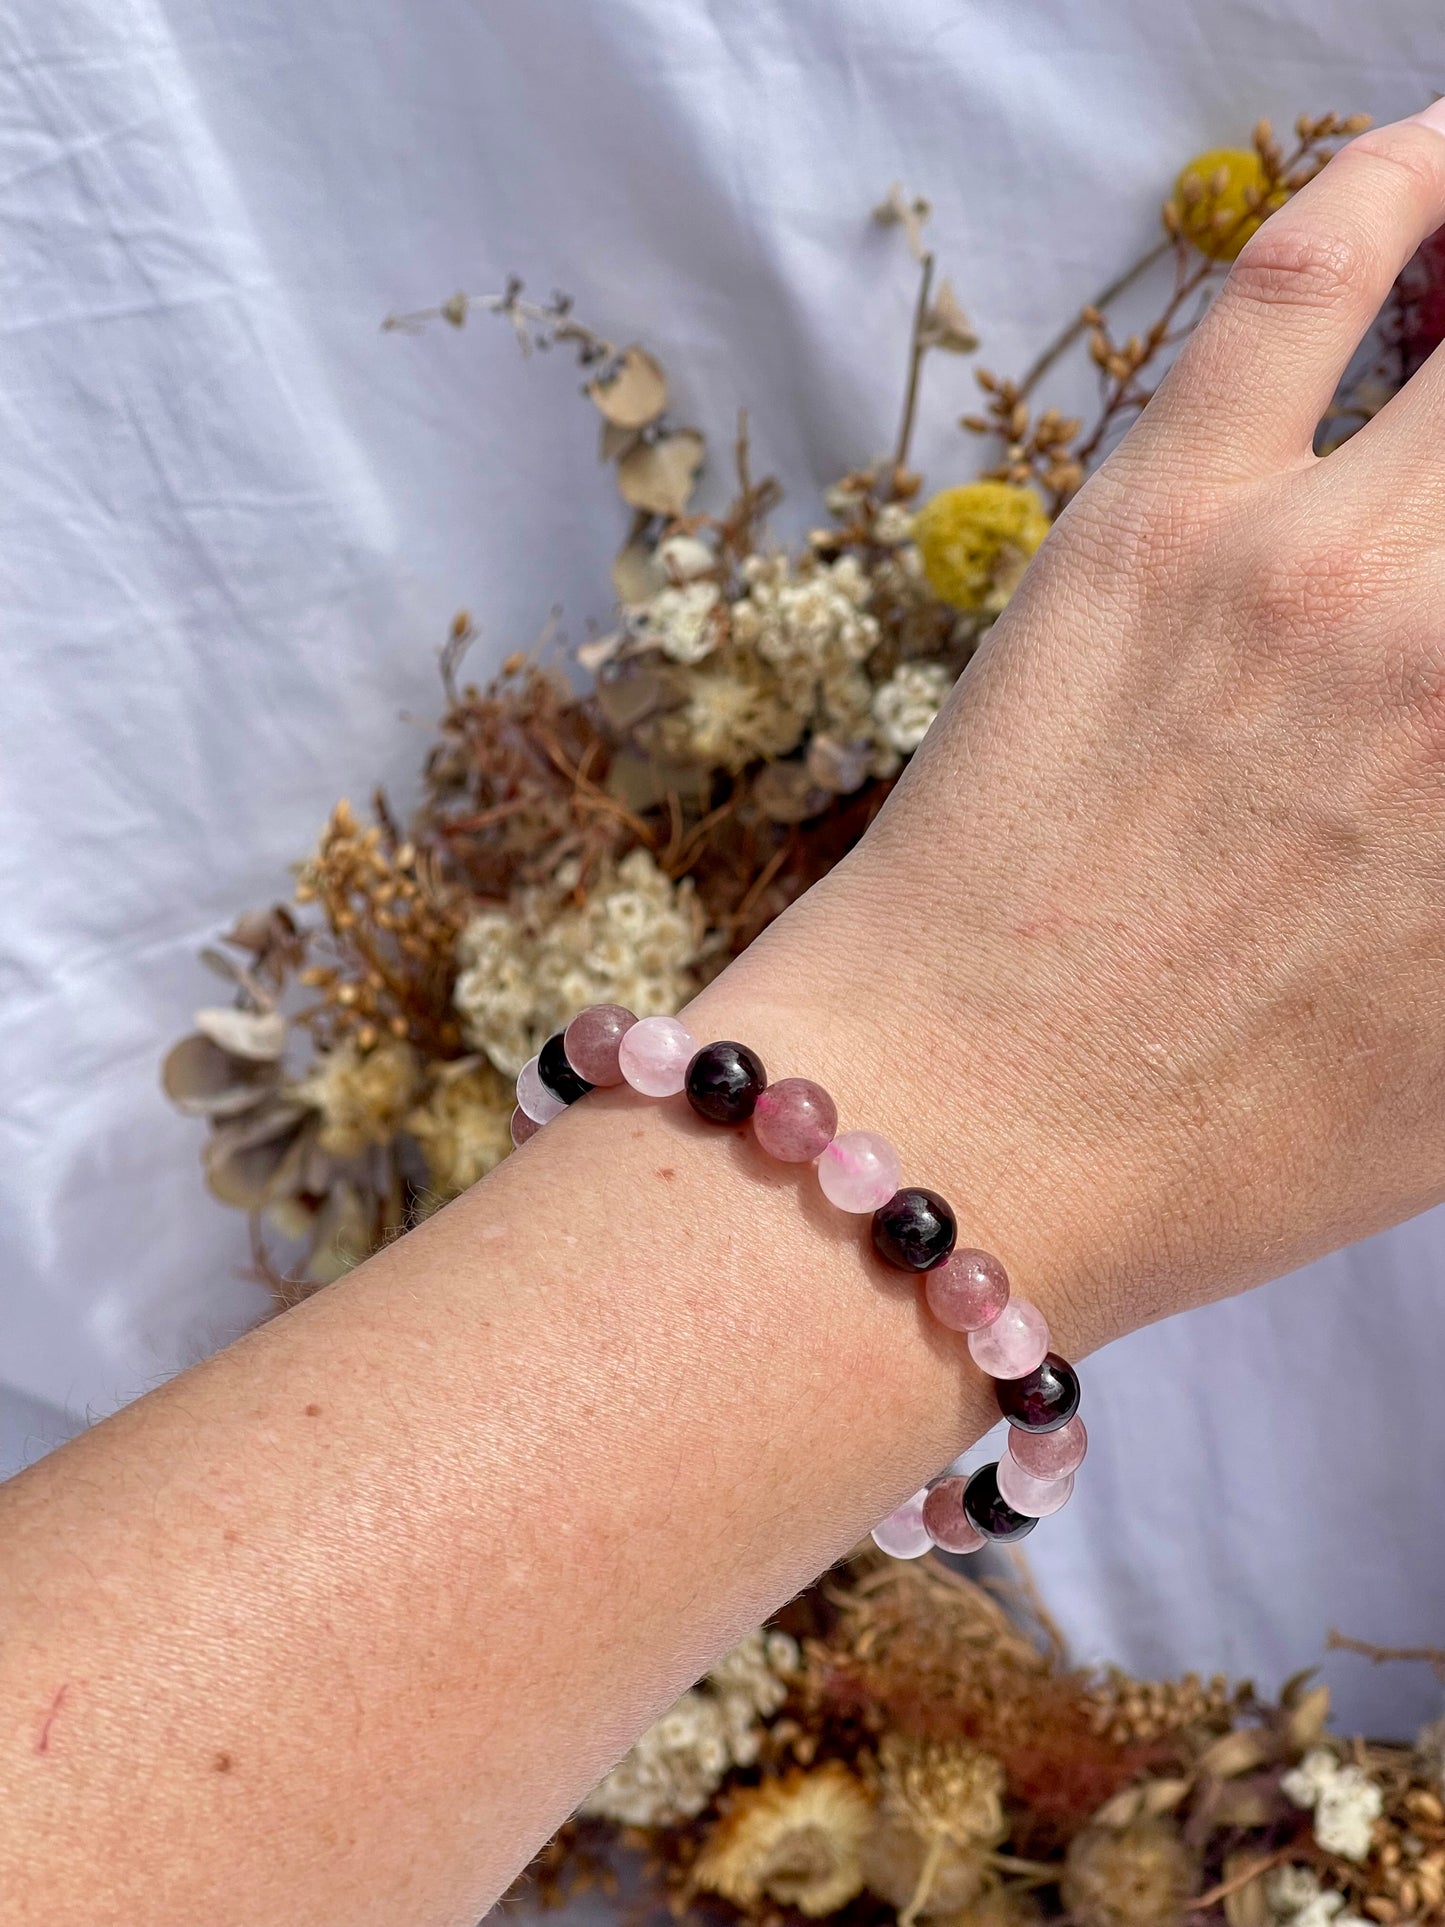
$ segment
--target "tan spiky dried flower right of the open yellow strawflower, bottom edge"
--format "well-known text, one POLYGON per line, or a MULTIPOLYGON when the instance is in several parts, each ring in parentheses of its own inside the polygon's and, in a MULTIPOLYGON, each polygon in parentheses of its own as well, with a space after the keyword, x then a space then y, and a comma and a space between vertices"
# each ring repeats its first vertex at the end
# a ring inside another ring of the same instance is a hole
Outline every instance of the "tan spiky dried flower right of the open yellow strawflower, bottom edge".
POLYGON ((1008 1833, 1002 1796, 1004 1769, 971 1742, 884 1734, 863 1877, 900 1910, 902 1927, 981 1894, 988 1854, 1008 1833))

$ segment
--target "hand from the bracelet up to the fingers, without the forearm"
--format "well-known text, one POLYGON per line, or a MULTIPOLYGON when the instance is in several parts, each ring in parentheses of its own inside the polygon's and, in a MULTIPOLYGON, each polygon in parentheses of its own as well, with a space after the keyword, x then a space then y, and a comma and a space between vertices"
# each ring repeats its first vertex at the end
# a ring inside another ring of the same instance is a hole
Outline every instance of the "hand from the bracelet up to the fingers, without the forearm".
POLYGON ((1366 133, 1248 243, 778 933, 840 1064, 882 1027, 867 1122, 1077 1349, 1445 1197, 1441 356, 1312 453, 1443 133, 1366 133))

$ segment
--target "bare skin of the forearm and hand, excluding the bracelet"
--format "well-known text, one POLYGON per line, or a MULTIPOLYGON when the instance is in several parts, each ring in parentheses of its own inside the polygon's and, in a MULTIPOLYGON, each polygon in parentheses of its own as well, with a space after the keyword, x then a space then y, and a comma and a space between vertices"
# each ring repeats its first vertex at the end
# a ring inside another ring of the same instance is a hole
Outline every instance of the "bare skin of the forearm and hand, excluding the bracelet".
MULTIPOLYGON (((1266 224, 875 832, 692 1010, 1075 1355, 1445 1197, 1445 366, 1310 453, 1441 131, 1266 224)), ((6 1921, 474 1921, 986 1422, 805 1174, 590 1098, 0 1491, 6 1921)))

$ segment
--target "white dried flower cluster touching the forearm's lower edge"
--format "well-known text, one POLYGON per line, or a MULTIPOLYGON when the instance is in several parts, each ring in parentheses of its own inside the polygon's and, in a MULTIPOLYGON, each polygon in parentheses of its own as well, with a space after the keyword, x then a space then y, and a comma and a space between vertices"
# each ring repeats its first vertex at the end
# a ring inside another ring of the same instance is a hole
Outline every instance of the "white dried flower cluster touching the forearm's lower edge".
POLYGON ((730 1767, 757 1759, 763 1721, 788 1696, 780 1675, 796 1665, 798 1646, 786 1634, 749 1632, 644 1732, 578 1811, 624 1827, 701 1813, 730 1767))

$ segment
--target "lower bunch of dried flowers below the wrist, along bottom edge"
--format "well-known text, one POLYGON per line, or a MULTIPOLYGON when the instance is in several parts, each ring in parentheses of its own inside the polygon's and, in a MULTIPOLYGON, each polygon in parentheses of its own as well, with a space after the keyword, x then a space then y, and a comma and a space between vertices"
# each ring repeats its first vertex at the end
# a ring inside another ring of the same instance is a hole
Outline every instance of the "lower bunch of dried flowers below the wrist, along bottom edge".
MULTIPOLYGON (((1445 1680, 1445 1651, 1354 1650, 1445 1680)), ((1312 1673, 1266 1702, 1077 1671, 1021 1578, 869 1547, 686 1692, 516 1892, 615 1892, 630 1860, 638 1917, 757 1927, 1445 1921, 1441 1727, 1343 1744, 1327 1715, 1312 1673)))

